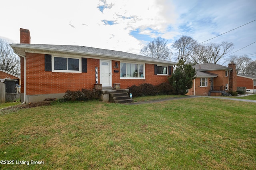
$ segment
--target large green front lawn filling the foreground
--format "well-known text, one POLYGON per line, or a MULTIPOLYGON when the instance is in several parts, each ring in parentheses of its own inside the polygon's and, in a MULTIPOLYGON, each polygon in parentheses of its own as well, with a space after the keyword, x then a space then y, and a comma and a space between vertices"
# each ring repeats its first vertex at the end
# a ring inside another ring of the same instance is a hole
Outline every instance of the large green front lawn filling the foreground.
POLYGON ((256 105, 193 98, 0 113, 0 169, 256 169, 256 105))

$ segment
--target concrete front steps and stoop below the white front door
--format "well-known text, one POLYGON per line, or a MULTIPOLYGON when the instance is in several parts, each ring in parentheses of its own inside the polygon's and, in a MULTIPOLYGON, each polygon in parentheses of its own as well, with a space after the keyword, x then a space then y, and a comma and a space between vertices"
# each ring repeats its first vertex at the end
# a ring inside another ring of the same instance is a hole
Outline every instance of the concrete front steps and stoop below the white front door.
POLYGON ((102 101, 111 103, 131 103, 129 89, 102 89, 100 90, 102 101))

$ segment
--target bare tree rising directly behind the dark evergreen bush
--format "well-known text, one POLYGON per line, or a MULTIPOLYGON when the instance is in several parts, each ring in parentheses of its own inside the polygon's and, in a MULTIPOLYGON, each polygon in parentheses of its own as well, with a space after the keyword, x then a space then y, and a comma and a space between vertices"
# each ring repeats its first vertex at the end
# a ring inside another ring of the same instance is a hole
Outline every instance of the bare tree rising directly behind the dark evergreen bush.
POLYGON ((172 44, 172 47, 179 51, 177 55, 177 61, 180 59, 186 61, 196 44, 197 41, 189 36, 182 36, 180 39, 176 40, 172 44))

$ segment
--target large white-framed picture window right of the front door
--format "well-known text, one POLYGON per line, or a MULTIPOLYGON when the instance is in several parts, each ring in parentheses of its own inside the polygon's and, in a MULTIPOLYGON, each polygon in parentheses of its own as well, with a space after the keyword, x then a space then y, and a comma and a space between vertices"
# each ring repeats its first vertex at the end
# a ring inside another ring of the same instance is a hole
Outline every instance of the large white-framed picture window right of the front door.
POLYGON ((144 64, 121 62, 120 78, 144 78, 144 64))

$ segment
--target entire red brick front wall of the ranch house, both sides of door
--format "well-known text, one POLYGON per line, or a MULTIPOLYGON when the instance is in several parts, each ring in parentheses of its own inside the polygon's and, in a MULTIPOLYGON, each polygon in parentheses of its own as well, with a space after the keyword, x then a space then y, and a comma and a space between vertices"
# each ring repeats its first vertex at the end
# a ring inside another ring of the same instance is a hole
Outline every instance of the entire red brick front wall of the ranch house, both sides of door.
MULTIPOLYGON (((21 59, 22 61, 23 59, 21 59)), ((154 75, 154 65, 146 64, 146 79, 120 79, 120 67, 114 68, 115 63, 112 61, 112 83, 121 83, 120 87, 125 89, 132 85, 141 83, 150 83, 158 85, 168 81, 168 76, 154 75), (119 70, 119 73, 114 73, 114 70, 119 70)), ((21 62, 23 65, 23 61, 21 62)), ((58 73, 52 71, 44 71, 44 54, 26 53, 26 94, 53 94, 65 93, 66 90, 76 91, 94 88, 95 84, 95 67, 99 68, 100 75, 100 60, 87 59, 87 73, 58 73)), ((23 67, 21 67, 21 77, 24 77, 23 67)), ((98 76, 100 82, 100 76, 98 76)), ((22 78, 22 87, 24 87, 24 79, 22 78)), ((22 88, 22 93, 24 89, 22 88)))

